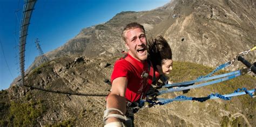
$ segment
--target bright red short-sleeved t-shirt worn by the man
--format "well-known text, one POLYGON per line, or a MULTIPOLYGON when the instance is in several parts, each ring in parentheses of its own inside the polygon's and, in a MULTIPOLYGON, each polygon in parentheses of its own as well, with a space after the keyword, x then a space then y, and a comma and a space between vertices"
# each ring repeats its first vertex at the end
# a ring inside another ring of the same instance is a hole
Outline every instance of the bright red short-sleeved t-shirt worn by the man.
MULTIPOLYGON (((127 54, 127 57, 130 57, 133 61, 137 63, 137 65, 140 68, 143 68, 145 72, 149 74, 149 64, 147 61, 144 63, 134 59, 131 57, 131 55, 127 54)), ((141 97, 142 93, 142 88, 143 87, 143 78, 141 77, 142 72, 139 72, 136 67, 134 67, 129 61, 125 59, 120 59, 117 60, 116 63, 114 64, 113 72, 111 75, 111 83, 113 82, 114 79, 117 77, 126 77, 127 78, 127 88, 125 92, 125 98, 126 100, 130 102, 135 102, 138 101, 141 97)), ((146 87, 149 87, 151 84, 147 83, 146 87)))

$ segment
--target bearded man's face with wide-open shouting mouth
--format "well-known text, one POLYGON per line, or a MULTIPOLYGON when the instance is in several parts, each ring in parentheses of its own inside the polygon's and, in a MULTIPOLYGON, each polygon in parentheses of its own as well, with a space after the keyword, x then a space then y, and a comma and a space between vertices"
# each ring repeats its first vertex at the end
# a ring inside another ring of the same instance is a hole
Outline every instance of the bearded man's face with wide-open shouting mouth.
POLYGON ((127 30, 125 32, 126 47, 128 53, 138 61, 147 59, 147 41, 146 35, 140 28, 127 30))

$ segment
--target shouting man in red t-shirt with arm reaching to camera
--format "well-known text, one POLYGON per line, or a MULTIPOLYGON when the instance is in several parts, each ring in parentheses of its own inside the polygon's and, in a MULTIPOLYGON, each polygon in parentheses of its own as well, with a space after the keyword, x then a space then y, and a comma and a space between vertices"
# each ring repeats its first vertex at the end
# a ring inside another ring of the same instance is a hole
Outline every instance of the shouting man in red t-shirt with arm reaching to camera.
POLYGON ((105 126, 123 126, 122 119, 126 113, 126 101, 138 101, 149 85, 143 81, 142 73, 137 69, 139 67, 149 74, 144 27, 138 23, 127 24, 122 38, 128 54, 125 59, 116 61, 113 68, 111 93, 107 97, 107 110, 104 112, 105 126))

